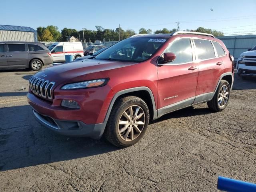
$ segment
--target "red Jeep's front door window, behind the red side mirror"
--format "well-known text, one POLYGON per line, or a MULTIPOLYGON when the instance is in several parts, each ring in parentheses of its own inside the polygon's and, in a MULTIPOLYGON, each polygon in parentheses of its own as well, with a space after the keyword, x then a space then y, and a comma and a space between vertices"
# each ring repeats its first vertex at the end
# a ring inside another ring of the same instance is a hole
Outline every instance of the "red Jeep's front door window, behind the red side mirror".
MULTIPOLYGON (((176 55, 176 59, 170 64, 181 64, 193 61, 192 47, 190 39, 180 39, 174 41, 164 53, 172 52, 176 55)), ((163 55, 160 60, 163 60, 163 55)))

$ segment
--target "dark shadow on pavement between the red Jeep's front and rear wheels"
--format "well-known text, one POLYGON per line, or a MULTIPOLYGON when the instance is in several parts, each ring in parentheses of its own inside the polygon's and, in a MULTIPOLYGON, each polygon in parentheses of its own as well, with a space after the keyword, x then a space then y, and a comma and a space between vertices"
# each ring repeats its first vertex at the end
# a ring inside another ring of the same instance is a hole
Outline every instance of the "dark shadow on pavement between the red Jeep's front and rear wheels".
POLYGON ((211 114, 211 113, 214 113, 214 111, 211 111, 209 108, 194 108, 194 106, 190 106, 184 109, 180 109, 180 110, 165 114, 159 119, 152 121, 150 124, 154 124, 154 123, 168 120, 168 119, 191 117, 191 116, 198 116, 198 115, 211 114))

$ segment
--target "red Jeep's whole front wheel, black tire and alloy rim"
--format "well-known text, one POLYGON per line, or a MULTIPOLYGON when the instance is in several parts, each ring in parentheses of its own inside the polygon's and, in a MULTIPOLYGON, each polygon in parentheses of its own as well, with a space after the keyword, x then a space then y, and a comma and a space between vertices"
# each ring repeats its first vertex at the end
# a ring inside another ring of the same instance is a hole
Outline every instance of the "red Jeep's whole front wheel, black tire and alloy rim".
POLYGON ((114 104, 104 136, 117 147, 129 147, 136 144, 143 137, 148 122, 149 110, 147 104, 141 98, 126 96, 118 99, 114 104), (132 111, 132 121, 129 121, 131 118, 130 111, 132 111))

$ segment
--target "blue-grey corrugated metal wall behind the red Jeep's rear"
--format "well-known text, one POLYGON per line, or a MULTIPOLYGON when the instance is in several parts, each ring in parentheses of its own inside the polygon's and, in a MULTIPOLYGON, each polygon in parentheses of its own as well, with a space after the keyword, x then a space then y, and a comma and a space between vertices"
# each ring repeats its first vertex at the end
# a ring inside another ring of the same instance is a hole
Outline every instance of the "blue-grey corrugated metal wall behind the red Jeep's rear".
POLYGON ((237 60, 242 52, 256 46, 256 35, 218 36, 224 42, 234 59, 237 60))

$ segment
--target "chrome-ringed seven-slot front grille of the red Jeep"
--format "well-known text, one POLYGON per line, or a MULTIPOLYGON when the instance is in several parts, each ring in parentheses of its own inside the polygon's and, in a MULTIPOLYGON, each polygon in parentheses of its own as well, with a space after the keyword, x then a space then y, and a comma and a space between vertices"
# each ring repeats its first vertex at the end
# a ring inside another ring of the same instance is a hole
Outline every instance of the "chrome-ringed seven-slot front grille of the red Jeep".
POLYGON ((49 82, 48 80, 44 80, 35 76, 32 76, 29 79, 29 87, 30 90, 35 94, 42 98, 48 98, 52 100, 53 98, 53 86, 55 82, 49 82))

